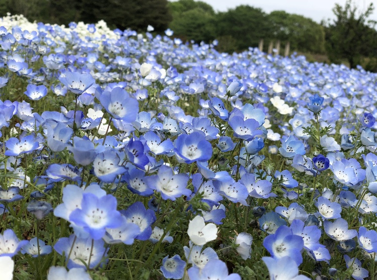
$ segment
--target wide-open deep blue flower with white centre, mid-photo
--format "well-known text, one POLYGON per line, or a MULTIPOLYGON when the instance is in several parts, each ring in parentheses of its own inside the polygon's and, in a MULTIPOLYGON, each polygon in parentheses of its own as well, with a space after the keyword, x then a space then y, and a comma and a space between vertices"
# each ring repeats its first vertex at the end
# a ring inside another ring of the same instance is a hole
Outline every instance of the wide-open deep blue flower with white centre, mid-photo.
POLYGON ((185 163, 206 161, 212 156, 212 145, 199 132, 190 135, 181 134, 174 141, 173 149, 177 159, 185 163))

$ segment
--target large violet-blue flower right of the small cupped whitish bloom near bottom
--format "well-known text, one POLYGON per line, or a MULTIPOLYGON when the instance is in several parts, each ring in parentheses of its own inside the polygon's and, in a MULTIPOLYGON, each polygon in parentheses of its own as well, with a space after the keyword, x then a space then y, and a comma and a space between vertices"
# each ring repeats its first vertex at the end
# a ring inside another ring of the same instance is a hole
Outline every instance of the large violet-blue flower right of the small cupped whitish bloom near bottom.
POLYGON ((303 262, 301 250, 304 247, 304 241, 302 237, 294 235, 287 226, 280 226, 274 234, 266 236, 263 246, 275 259, 289 256, 297 265, 303 262))

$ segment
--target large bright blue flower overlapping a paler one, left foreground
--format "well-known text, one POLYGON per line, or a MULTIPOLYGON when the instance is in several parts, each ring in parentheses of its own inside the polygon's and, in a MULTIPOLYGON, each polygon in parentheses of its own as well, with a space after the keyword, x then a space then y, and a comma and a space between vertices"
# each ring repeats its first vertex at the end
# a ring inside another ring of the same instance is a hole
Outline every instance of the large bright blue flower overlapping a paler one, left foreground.
POLYGON ((101 239, 106 228, 117 228, 122 224, 122 216, 117 211, 117 199, 112 195, 98 198, 96 195, 82 195, 81 209, 74 210, 69 220, 90 234, 94 240, 101 239))

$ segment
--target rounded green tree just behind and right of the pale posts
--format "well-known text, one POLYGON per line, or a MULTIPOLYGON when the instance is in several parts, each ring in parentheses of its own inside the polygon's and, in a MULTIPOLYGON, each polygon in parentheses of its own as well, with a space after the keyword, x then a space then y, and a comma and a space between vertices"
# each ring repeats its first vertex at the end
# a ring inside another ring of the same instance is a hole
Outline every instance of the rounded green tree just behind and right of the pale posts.
POLYGON ((273 38, 283 46, 290 42, 292 50, 325 52, 324 28, 312 19, 285 11, 273 11, 268 18, 273 28, 273 38))

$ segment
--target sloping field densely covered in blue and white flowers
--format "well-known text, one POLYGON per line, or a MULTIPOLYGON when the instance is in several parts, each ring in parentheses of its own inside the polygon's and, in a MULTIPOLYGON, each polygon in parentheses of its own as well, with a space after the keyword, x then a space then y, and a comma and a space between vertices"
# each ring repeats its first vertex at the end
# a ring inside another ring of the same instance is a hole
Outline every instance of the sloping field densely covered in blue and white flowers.
POLYGON ((376 279, 377 74, 0 20, 1 279, 376 279))

